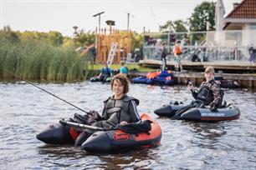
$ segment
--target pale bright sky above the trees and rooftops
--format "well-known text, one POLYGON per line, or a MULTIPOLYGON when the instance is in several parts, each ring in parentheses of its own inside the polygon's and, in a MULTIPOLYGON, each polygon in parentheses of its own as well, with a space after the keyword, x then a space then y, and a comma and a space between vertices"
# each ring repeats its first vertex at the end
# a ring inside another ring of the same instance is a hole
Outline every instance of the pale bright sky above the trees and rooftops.
MULTIPOLYGON (((95 31, 106 20, 115 21, 115 28, 127 29, 128 13, 132 31, 157 32, 168 20, 190 18, 193 9, 203 1, 217 0, 0 0, 0 29, 9 25, 14 31, 58 31, 71 37, 74 26, 85 32, 95 31)), ((233 9, 233 2, 223 0, 225 15, 233 9)))

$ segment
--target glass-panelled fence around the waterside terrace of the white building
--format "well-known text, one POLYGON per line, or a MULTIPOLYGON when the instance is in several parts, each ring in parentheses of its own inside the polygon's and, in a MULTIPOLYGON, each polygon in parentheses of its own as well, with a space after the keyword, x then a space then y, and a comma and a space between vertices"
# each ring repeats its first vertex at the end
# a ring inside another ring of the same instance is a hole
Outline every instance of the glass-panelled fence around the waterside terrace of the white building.
POLYGON ((161 60, 161 43, 166 42, 166 59, 172 61, 172 47, 177 39, 182 40, 182 57, 193 62, 248 61, 252 49, 256 49, 256 30, 155 33, 146 34, 143 57, 161 60))

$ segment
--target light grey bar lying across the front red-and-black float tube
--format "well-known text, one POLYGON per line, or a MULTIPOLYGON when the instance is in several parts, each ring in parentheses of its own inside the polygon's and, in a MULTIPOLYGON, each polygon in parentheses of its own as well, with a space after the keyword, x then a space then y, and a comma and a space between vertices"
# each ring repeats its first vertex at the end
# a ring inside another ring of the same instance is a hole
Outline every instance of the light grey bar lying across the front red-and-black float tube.
POLYGON ((114 128, 99 128, 99 127, 93 127, 90 125, 86 124, 81 124, 78 122, 69 122, 69 121, 64 121, 64 120, 59 120, 60 123, 69 125, 70 127, 78 130, 79 132, 86 132, 86 129, 93 130, 93 131, 110 131, 110 130, 115 130, 114 128))

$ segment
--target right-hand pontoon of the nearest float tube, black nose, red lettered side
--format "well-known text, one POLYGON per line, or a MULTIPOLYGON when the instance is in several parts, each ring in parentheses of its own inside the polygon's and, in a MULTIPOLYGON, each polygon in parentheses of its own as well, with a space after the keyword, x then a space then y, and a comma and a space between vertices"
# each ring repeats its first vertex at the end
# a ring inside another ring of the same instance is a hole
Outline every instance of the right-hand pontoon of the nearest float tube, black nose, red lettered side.
POLYGON ((151 131, 148 133, 124 133, 120 130, 100 131, 93 133, 81 146, 86 151, 108 152, 120 148, 141 148, 158 145, 161 141, 159 124, 146 113, 141 114, 141 120, 151 121, 151 131))

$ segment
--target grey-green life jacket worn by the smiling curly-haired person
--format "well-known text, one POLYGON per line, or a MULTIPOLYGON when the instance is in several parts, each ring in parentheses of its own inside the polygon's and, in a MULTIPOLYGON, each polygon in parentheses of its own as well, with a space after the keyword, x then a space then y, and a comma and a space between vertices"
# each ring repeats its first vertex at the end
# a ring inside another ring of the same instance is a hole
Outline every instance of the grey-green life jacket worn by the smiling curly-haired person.
POLYGON ((113 128, 122 121, 131 122, 131 116, 129 114, 129 104, 131 101, 136 102, 136 105, 140 103, 138 99, 126 95, 125 98, 120 100, 115 100, 112 97, 105 100, 103 115, 105 120, 100 122, 100 127, 113 128))

